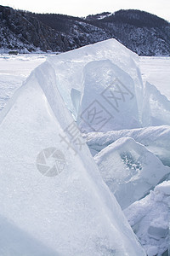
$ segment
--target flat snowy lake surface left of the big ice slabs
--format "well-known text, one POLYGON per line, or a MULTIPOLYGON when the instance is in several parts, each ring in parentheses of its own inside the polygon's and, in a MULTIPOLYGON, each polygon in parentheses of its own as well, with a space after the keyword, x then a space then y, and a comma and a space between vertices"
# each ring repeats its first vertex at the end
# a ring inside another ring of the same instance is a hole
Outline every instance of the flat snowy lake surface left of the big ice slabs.
POLYGON ((48 55, 0 55, 0 111, 31 71, 48 55))

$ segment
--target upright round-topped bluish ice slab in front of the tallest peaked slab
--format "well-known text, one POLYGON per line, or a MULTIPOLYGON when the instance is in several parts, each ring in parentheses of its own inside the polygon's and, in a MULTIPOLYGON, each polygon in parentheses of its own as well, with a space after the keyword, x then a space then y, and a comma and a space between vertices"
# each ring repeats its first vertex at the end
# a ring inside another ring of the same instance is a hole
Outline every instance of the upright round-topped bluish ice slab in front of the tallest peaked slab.
POLYGON ((91 61, 83 69, 77 124, 86 132, 140 127, 133 79, 111 61, 91 61))

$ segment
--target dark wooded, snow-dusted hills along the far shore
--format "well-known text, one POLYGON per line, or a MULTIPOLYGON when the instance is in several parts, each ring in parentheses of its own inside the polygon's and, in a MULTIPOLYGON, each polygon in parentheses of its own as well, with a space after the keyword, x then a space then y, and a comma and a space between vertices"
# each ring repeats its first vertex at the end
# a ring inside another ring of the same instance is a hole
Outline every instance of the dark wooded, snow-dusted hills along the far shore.
POLYGON ((65 52, 116 38, 138 55, 170 55, 170 25, 135 9, 78 18, 0 6, 0 52, 65 52))

